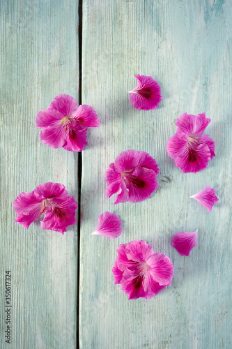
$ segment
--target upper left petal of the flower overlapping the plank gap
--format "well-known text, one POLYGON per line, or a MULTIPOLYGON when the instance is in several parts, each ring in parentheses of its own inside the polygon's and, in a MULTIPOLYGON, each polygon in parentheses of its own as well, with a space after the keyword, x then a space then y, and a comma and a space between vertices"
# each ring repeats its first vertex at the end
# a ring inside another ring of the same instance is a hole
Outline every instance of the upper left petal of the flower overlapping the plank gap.
POLYGON ((58 110, 41 110, 36 117, 36 127, 58 126, 61 124, 63 114, 58 110))

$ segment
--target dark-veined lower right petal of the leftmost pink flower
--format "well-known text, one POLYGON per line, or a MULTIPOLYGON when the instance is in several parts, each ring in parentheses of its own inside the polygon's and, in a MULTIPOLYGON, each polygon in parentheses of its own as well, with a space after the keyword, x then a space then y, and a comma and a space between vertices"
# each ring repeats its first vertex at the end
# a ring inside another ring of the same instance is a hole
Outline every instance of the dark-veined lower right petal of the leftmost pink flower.
POLYGON ((41 224, 42 229, 54 230, 56 232, 66 232, 68 225, 73 225, 77 222, 75 213, 77 209, 77 202, 72 196, 65 200, 52 198, 52 207, 45 211, 45 218, 41 224))

